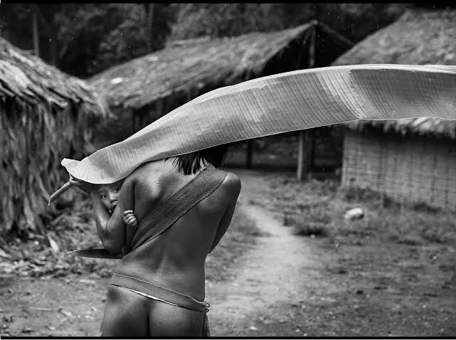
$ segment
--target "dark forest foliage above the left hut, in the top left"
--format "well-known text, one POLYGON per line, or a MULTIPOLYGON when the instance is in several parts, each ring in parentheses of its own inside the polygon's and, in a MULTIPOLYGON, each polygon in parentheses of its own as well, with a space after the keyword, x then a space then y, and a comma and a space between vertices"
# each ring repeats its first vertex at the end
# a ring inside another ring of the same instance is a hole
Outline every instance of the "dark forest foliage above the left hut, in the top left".
POLYGON ((142 4, 3 4, 1 35, 33 50, 36 15, 41 58, 85 78, 164 46, 169 4, 154 4, 150 21, 147 9, 142 4))

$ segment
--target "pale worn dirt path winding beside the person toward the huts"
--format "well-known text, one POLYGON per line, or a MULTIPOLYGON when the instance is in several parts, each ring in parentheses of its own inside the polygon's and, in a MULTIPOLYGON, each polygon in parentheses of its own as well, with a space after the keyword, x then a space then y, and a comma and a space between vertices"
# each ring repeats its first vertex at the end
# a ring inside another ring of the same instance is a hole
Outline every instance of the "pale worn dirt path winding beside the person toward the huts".
POLYGON ((291 309, 285 305, 305 309, 303 304, 312 288, 326 284, 332 289, 322 280, 325 255, 309 239, 282 226, 282 215, 255 204, 263 198, 259 188, 268 185, 263 177, 255 172, 236 173, 243 185, 241 207, 266 235, 238 260, 233 280, 206 288, 206 296, 213 302, 209 313, 212 334, 268 336, 273 329, 274 334, 303 336, 304 320, 290 319, 291 309))

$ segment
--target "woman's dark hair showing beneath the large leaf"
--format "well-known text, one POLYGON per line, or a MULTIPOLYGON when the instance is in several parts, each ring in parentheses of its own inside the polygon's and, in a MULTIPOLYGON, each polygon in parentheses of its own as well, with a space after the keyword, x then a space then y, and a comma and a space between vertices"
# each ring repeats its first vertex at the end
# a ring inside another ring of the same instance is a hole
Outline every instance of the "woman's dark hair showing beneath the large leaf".
POLYGON ((191 152, 190 154, 182 154, 181 156, 176 156, 173 164, 178 166, 179 171, 183 169, 186 175, 196 174, 201 169, 201 159, 219 168, 225 161, 229 147, 230 144, 221 144, 216 147, 191 152))

